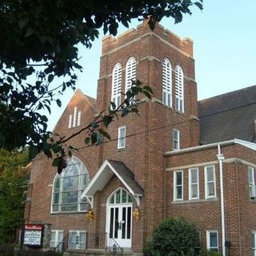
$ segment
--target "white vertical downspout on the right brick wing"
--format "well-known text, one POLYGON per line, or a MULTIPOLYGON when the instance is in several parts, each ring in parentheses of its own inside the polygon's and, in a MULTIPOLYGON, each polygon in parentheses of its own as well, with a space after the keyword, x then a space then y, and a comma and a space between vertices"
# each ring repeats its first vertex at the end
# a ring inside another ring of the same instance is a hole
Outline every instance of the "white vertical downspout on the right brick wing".
POLYGON ((223 160, 224 155, 221 154, 221 146, 218 144, 218 164, 219 164, 219 179, 220 179, 220 189, 221 189, 221 218, 222 218, 222 256, 226 256, 226 247, 225 247, 225 213, 224 213, 224 190, 223 190, 223 160))

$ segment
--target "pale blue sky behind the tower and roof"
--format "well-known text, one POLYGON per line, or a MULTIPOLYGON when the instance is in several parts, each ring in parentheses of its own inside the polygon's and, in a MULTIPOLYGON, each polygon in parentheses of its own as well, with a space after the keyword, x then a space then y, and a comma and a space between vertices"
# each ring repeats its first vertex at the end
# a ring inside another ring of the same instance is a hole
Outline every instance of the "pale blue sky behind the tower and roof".
MULTIPOLYGON (((180 38, 194 42, 195 77, 198 100, 256 85, 256 0, 204 0, 203 10, 192 9, 181 23, 164 18, 160 24, 180 38)), ((133 21, 130 28, 140 22, 133 21)), ((118 34, 127 29, 120 26, 118 34)), ((77 88, 96 97, 99 60, 102 51, 101 31, 90 49, 79 46, 83 72, 78 73, 77 88)), ((52 106, 48 127, 53 130, 73 95, 67 90, 62 107, 52 106)))

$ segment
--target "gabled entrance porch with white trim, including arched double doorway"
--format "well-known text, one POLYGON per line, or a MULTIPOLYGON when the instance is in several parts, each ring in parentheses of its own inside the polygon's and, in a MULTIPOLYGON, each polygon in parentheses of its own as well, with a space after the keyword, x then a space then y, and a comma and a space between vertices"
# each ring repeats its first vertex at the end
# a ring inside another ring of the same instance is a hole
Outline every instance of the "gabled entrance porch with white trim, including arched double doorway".
MULTIPOLYGON (((143 190, 134 174, 123 162, 106 160, 90 181, 81 198, 100 216, 95 218, 95 231, 109 234, 113 246, 131 249, 133 239, 133 210, 140 205, 143 190), (102 225, 104 224, 104 226, 102 225)), ((106 246, 110 246, 106 241, 106 246)))

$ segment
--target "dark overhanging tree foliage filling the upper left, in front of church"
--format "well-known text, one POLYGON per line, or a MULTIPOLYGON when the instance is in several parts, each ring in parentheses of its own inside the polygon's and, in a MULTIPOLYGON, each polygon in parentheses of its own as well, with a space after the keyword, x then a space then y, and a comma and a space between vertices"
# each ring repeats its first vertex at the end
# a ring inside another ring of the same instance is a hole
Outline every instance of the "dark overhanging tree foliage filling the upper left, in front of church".
MULTIPOLYGON (((181 22, 192 6, 202 9, 202 0, 1 1, 0 147, 13 150, 27 144, 31 157, 41 150, 50 156, 48 120, 42 110, 50 112, 52 102, 61 106, 60 95, 75 88, 76 73, 82 71, 78 43, 90 48, 100 28, 116 35, 118 24, 128 27, 132 18, 150 17, 151 29, 163 17, 181 22)), ((132 93, 141 92, 150 94, 145 88, 132 93)), ((124 106, 122 111, 127 112, 124 106)), ((112 114, 101 118, 104 125, 112 114)), ((91 133, 90 142, 107 138, 100 131, 91 133)))

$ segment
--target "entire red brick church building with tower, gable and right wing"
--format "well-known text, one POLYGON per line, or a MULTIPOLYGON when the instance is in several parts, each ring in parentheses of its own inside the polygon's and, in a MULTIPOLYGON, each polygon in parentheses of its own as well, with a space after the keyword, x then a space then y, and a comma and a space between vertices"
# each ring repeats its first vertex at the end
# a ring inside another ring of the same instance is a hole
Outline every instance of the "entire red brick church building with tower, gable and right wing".
POLYGON ((146 22, 103 38, 97 98, 77 90, 54 133, 74 134, 135 78, 153 98, 140 98, 140 116, 112 122, 110 141, 86 147, 85 134, 74 137, 79 150, 60 175, 34 159, 26 223, 44 226, 43 247, 142 255, 163 218, 183 216, 201 248, 256 255, 256 86, 198 102, 189 38, 146 22))

